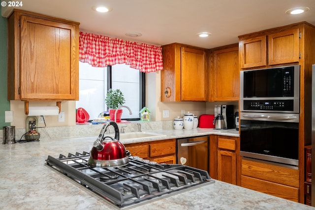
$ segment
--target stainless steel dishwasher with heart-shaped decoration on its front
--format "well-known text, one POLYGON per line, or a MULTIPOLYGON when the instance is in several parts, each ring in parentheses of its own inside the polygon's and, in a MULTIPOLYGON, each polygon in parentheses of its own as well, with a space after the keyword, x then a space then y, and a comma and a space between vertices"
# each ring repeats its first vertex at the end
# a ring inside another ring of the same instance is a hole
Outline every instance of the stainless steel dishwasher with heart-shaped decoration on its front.
POLYGON ((209 136, 176 140, 177 164, 209 172, 209 136))

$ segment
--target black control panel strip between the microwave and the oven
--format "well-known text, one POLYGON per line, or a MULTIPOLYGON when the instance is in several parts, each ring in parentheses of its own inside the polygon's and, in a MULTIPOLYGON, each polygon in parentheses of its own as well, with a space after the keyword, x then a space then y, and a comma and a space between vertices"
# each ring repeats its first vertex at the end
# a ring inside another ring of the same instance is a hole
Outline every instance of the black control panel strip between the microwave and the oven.
POLYGON ((244 110, 293 111, 293 100, 244 100, 244 110))

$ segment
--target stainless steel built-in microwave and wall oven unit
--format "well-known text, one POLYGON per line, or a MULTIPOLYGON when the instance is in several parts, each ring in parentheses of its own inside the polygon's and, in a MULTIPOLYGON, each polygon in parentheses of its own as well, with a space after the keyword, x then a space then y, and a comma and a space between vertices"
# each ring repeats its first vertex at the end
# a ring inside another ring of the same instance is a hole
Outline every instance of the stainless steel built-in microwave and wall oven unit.
POLYGON ((299 65, 241 71, 243 157, 298 166, 299 65))

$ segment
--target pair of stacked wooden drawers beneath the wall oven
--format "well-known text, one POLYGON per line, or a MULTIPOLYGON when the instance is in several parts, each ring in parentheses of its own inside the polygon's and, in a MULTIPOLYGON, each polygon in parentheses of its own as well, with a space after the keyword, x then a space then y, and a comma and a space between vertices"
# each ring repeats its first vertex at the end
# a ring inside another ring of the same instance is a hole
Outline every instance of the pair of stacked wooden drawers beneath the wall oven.
POLYGON ((299 170, 242 159, 241 186, 299 201, 299 170))

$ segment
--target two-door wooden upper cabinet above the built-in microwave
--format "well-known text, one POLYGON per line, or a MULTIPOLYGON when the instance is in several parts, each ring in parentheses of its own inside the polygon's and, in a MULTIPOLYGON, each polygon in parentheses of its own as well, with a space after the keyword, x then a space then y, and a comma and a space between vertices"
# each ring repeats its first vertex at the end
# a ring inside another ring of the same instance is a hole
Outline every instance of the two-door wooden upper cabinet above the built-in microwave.
POLYGON ((299 29, 239 36, 241 69, 299 62, 299 29))

